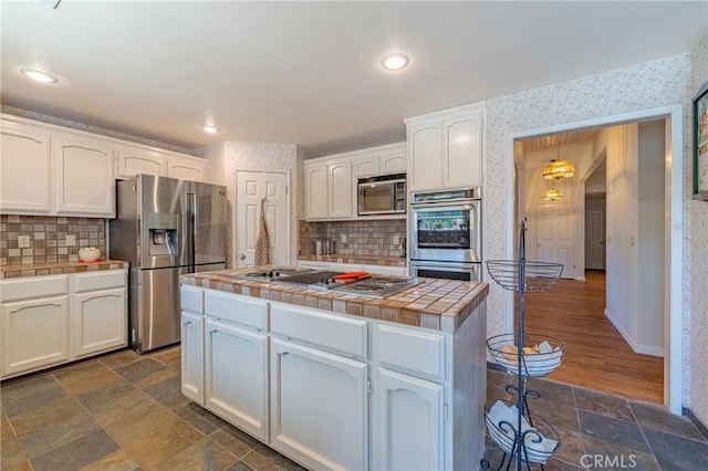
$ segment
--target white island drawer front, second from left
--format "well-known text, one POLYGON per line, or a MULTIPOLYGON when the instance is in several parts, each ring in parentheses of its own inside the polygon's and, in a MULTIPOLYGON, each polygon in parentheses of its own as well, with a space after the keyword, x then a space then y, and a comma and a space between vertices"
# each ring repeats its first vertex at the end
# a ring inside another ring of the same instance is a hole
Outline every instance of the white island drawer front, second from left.
POLYGON ((268 304, 264 300, 220 291, 207 291, 204 296, 206 315, 259 331, 268 328, 268 304))

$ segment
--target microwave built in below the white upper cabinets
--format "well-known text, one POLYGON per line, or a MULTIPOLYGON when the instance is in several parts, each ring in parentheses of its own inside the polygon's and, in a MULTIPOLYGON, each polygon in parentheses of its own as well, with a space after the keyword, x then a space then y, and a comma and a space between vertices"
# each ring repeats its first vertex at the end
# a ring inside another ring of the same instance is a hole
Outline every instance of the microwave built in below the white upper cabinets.
POLYGON ((360 178, 360 216, 406 212, 406 174, 360 178))

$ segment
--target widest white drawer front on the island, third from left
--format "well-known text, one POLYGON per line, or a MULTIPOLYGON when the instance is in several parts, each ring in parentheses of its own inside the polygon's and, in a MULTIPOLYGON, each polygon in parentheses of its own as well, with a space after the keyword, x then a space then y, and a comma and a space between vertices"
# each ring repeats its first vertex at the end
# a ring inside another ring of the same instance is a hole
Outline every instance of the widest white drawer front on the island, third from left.
POLYGON ((270 326, 274 334, 362 357, 366 356, 366 321, 273 303, 270 311, 270 326))

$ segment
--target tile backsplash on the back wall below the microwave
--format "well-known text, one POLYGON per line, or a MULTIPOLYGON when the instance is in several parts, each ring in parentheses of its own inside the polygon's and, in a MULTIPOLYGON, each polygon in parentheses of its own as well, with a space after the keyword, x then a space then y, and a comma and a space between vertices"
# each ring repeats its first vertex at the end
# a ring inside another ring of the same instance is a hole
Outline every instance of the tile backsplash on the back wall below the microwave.
POLYGON ((399 257, 398 247, 406 237, 406 220, 299 221, 299 236, 301 255, 314 254, 314 240, 331 239, 335 242, 335 253, 399 257))

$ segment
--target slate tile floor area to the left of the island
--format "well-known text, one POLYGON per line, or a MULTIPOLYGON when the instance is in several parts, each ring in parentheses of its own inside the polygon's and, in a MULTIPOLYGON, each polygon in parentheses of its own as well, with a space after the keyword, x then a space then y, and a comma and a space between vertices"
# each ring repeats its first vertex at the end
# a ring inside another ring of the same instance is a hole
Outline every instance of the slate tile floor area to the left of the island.
POLYGON ((186 399, 179 355, 122 350, 4 381, 0 469, 302 470, 186 399))

